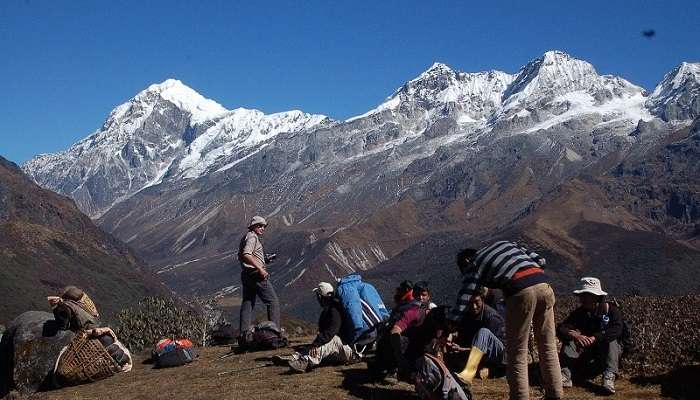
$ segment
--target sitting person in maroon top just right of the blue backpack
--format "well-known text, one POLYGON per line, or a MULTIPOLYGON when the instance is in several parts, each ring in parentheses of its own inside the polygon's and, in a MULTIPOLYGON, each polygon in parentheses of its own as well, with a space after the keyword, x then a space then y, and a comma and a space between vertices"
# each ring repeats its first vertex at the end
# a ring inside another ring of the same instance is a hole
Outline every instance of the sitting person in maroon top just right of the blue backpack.
POLYGON ((368 366, 377 379, 383 379, 396 371, 399 379, 410 382, 411 375, 415 372, 415 361, 422 355, 416 354, 415 350, 418 347, 417 338, 424 336, 418 327, 423 324, 428 309, 413 298, 411 281, 403 281, 396 288, 394 302, 396 307, 377 342, 375 362, 368 366), (409 346, 412 340, 413 344, 409 346))

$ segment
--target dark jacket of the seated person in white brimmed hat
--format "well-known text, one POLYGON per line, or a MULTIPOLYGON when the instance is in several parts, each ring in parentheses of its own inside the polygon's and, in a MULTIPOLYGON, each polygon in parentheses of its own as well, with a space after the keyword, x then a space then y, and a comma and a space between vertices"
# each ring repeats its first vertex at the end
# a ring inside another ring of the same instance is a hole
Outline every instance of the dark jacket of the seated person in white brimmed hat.
POLYGON ((622 336, 622 313, 614 304, 608 304, 608 318, 610 320, 607 324, 602 323, 600 313, 589 312, 583 307, 579 307, 572 311, 564 322, 559 324, 557 334, 563 340, 570 340, 567 329, 563 327, 563 325, 569 325, 585 336, 594 336, 599 343, 601 341, 609 343, 619 339, 622 336))

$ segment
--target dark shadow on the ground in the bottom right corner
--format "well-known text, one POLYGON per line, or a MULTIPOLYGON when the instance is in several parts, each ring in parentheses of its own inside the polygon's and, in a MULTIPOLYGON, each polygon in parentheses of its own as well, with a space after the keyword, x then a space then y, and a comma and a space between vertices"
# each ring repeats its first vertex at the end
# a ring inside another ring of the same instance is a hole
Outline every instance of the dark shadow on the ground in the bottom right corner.
POLYGON ((661 395, 678 400, 700 399, 700 364, 681 367, 664 375, 632 378, 637 385, 660 385, 661 395))

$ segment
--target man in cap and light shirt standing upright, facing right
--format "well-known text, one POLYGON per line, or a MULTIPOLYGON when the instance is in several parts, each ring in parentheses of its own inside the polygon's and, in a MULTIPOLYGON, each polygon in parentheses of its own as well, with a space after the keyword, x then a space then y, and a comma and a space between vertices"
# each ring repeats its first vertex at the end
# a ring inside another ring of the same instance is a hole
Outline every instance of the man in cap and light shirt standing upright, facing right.
POLYGON ((243 301, 241 303, 240 336, 238 345, 245 350, 252 340, 252 314, 255 308, 255 298, 260 297, 267 306, 267 319, 280 326, 280 305, 275 289, 270 283, 270 274, 266 263, 271 261, 263 252, 260 237, 265 232, 267 221, 260 216, 254 216, 248 225, 248 232, 241 238, 238 247, 238 260, 241 262, 241 286, 243 301))

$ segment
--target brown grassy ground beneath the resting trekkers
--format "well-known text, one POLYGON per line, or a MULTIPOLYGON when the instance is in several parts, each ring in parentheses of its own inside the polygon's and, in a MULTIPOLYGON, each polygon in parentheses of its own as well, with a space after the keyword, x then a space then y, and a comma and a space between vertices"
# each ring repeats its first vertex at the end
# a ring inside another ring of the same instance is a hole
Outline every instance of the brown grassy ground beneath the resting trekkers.
MULTIPOLYGON (((32 399, 414 399, 413 387, 406 383, 386 385, 366 380, 365 364, 343 367, 322 367, 306 374, 290 374, 286 367, 269 366, 218 376, 220 372, 249 368, 265 363, 274 354, 289 352, 268 351, 235 355, 223 360, 227 347, 201 349, 200 359, 194 363, 170 369, 153 369, 143 364, 146 354, 137 356, 132 372, 111 379, 39 393, 32 399)), ((507 398, 505 379, 476 381, 475 399, 507 398)), ((618 381, 618 394, 610 399, 658 399, 659 384, 638 386, 627 380, 618 381)), ((541 398, 536 388, 532 398, 541 398)), ((598 398, 594 389, 573 388, 566 391, 567 399, 598 398)))

